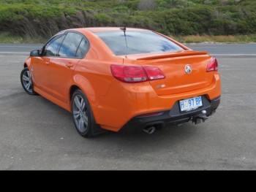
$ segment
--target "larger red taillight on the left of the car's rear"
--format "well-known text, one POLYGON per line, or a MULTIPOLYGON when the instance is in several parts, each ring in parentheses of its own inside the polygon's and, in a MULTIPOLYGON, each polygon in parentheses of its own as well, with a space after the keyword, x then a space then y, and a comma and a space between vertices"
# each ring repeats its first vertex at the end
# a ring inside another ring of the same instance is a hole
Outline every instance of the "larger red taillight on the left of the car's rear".
POLYGON ((160 80, 165 78, 165 74, 157 67, 151 66, 121 66, 111 65, 113 77, 121 82, 145 82, 148 80, 160 80))

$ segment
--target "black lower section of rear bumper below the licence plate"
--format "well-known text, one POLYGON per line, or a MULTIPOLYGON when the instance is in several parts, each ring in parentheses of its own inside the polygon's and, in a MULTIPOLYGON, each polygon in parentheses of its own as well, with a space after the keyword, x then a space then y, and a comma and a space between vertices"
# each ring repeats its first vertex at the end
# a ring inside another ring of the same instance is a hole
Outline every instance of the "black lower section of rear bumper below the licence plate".
POLYGON ((201 115, 203 110, 206 110, 206 116, 213 115, 214 112, 219 107, 220 96, 208 100, 206 96, 202 97, 203 107, 197 110, 192 110, 190 112, 181 112, 178 101, 173 105, 171 110, 166 110, 161 112, 159 115, 154 115, 150 117, 140 117, 136 116, 129 120, 121 129, 121 132, 132 132, 137 130, 142 130, 147 126, 156 126, 158 128, 165 127, 167 124, 178 125, 181 123, 189 122, 197 115, 201 115))

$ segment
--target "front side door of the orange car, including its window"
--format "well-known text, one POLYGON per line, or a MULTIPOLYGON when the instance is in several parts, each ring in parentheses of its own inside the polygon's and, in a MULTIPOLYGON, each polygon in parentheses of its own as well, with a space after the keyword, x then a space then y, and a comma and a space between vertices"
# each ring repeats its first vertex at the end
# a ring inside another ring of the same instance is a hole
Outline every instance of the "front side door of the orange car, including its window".
POLYGON ((50 62, 58 53, 64 37, 64 34, 59 34, 56 37, 53 37, 53 39, 50 39, 50 41, 42 48, 42 55, 40 57, 31 57, 31 73, 34 84, 37 88, 48 94, 51 93, 50 62))

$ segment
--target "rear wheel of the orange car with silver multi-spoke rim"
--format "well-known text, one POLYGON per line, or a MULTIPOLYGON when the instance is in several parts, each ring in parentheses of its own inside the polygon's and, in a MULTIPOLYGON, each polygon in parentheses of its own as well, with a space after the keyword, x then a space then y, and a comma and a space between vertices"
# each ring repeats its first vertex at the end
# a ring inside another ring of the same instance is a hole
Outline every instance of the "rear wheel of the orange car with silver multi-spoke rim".
POLYGON ((94 120, 89 101, 80 89, 72 95, 72 118, 78 134, 83 137, 94 136, 94 128, 98 125, 94 120))

